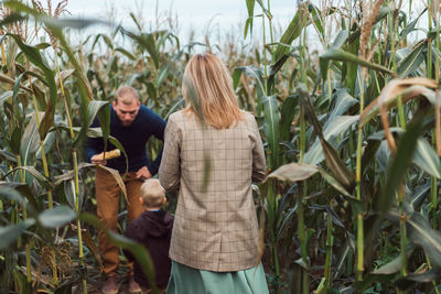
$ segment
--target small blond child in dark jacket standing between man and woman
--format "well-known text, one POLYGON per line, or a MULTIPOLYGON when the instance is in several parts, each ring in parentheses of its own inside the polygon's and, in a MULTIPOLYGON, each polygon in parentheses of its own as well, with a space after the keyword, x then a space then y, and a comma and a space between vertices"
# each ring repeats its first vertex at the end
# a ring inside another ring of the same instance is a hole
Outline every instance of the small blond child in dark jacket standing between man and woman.
MULTIPOLYGON (((165 204, 165 190, 157 178, 149 178, 141 185, 140 202, 146 210, 127 228, 125 236, 146 247, 154 265, 154 282, 159 287, 166 287, 171 261, 169 258, 170 239, 172 236, 173 217, 161 209, 165 204)), ((135 281, 149 287, 149 282, 141 265, 130 252, 126 257, 135 261, 135 281)))

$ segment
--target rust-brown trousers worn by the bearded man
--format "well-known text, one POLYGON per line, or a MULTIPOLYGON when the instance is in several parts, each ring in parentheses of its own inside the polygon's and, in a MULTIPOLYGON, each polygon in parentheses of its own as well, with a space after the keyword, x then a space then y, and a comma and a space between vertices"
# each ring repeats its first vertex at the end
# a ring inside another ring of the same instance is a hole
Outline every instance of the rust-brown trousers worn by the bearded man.
MULTIPOLYGON (((142 214, 143 207, 139 200, 141 196, 141 185, 143 181, 136 178, 136 173, 128 173, 126 175, 125 184, 127 190, 127 210, 129 221, 136 219, 142 214)), ((97 216, 110 230, 117 231, 118 227, 118 210, 119 197, 121 189, 119 188, 115 177, 104 168, 95 168, 95 189, 97 195, 97 216)), ((119 250, 109 239, 107 239, 104 231, 98 230, 98 244, 99 251, 104 258, 104 271, 107 276, 117 274, 119 265, 119 250)), ((129 263, 130 272, 133 274, 133 264, 129 263)))

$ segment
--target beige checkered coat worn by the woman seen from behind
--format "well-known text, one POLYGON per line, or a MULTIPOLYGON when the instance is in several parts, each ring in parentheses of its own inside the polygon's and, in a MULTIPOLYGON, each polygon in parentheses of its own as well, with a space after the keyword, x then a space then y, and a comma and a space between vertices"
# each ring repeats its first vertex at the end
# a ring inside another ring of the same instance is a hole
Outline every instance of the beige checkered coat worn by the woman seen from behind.
POLYGON ((245 117, 224 130, 202 128, 182 110, 169 118, 159 178, 166 190, 179 188, 170 247, 176 262, 215 272, 256 264, 251 181, 262 181, 266 167, 256 120, 245 117))

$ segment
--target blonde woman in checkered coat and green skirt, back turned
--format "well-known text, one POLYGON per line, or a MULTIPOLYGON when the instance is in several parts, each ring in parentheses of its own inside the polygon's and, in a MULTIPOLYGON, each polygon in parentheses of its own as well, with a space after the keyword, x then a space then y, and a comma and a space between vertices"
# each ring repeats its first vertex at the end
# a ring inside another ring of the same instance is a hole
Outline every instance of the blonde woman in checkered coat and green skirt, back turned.
POLYGON ((251 181, 265 178, 252 115, 241 111, 226 66, 193 56, 184 73, 186 108, 170 116, 159 178, 179 188, 170 258, 171 293, 268 293, 258 260, 251 181))

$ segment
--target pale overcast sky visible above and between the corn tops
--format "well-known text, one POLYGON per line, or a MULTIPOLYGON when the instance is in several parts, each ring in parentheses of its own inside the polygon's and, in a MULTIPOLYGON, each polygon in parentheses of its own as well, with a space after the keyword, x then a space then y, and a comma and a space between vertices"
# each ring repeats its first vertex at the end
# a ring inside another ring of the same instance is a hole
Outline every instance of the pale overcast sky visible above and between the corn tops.
MULTIPOLYGON (((56 4, 61 0, 52 1, 56 4)), ((45 4, 45 0, 41 2, 45 4)), ((298 0, 262 0, 262 2, 266 6, 270 3, 276 35, 280 37, 295 14, 298 0)), ((312 0, 312 2, 318 7, 326 2, 341 7, 345 2, 353 3, 354 1, 312 0)), ((404 10, 408 11, 408 1, 404 3, 404 10)), ((411 19, 422 11, 424 3, 426 0, 412 1, 411 19)), ((246 41, 241 40, 245 21, 248 18, 246 0, 68 0, 67 11, 73 18, 100 19, 135 30, 135 22, 130 18, 130 12, 132 12, 143 25, 144 32, 168 30, 180 37, 181 44, 189 43, 190 39, 204 43, 205 35, 225 36, 226 33, 235 35, 237 40, 245 43, 262 40, 261 18, 255 19, 254 40, 249 36, 246 41), (193 37, 190 36, 191 32, 194 33, 193 37)), ((261 9, 256 1, 255 14, 260 13, 261 9)), ((427 28, 426 24, 422 26, 427 28)), ((110 31, 104 26, 94 26, 88 30, 95 33, 110 31)), ((309 26, 308 30, 309 45, 319 47, 320 51, 320 46, 323 45, 313 28, 309 26)), ((88 32, 83 33, 87 35, 88 32)), ((275 41, 277 40, 276 37, 275 41)))

